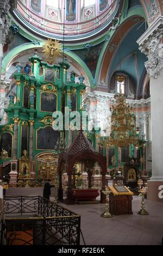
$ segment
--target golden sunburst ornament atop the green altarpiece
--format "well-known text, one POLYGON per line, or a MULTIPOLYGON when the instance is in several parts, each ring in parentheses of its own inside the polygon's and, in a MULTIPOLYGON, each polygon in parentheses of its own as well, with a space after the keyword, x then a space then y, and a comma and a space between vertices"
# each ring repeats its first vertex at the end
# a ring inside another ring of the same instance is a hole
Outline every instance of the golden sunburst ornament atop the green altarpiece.
POLYGON ((61 44, 58 40, 48 38, 43 44, 43 51, 48 61, 53 61, 61 53, 61 44))

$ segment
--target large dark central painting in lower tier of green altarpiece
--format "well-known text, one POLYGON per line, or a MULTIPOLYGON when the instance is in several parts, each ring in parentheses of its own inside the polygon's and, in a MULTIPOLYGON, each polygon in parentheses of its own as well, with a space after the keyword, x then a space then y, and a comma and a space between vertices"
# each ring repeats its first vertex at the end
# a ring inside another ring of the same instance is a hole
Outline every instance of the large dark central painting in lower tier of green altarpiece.
POLYGON ((37 149, 53 150, 57 145, 57 139, 60 137, 59 131, 54 131, 52 126, 47 126, 36 131, 37 149))

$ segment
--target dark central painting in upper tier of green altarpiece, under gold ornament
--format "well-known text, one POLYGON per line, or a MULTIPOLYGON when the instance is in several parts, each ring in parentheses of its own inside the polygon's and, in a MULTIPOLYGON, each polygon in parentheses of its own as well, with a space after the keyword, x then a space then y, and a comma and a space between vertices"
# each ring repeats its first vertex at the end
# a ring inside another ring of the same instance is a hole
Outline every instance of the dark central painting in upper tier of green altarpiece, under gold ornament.
POLYGON ((54 93, 41 93, 40 110, 44 112, 57 111, 57 95, 54 93))

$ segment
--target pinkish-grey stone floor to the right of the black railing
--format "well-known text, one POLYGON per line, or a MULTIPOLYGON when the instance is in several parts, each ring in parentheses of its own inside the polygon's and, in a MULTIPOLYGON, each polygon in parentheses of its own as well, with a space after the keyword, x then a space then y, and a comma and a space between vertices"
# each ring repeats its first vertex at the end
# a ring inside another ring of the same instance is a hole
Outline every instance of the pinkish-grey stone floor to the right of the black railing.
MULTIPOLYGON (((146 201, 149 215, 138 215, 141 197, 133 197, 133 215, 102 218, 104 204, 60 205, 82 216, 81 230, 86 245, 161 245, 163 204, 146 201)), ((83 245, 82 237, 80 244, 83 245)))

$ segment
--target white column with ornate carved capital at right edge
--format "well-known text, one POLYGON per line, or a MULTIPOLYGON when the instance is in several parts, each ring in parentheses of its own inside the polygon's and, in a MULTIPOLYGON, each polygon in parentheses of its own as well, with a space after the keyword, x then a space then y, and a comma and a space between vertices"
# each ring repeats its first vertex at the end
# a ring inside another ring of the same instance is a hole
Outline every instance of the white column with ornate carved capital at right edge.
POLYGON ((152 122, 152 177, 148 181, 148 200, 163 202, 163 17, 160 16, 137 43, 148 61, 145 63, 150 77, 151 88, 151 122, 152 122))

